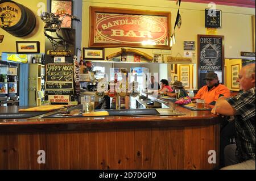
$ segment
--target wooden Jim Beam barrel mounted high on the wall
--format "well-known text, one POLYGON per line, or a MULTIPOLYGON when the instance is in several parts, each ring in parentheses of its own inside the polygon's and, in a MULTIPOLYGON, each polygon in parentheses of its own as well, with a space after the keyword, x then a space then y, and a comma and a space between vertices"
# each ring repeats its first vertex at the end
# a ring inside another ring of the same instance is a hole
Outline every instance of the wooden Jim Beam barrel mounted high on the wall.
POLYGON ((34 13, 13 1, 0 2, 0 27, 16 37, 30 34, 36 26, 34 13))

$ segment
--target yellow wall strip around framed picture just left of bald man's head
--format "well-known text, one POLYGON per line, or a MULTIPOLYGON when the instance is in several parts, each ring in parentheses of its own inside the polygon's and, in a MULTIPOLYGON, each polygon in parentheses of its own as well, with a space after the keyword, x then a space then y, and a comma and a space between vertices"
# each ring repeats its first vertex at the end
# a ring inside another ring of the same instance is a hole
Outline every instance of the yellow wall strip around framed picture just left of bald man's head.
POLYGON ((240 65, 240 69, 242 68, 242 60, 241 59, 225 59, 225 86, 228 87, 229 90, 232 91, 239 91, 239 89, 232 89, 232 72, 231 66, 232 65, 240 65))

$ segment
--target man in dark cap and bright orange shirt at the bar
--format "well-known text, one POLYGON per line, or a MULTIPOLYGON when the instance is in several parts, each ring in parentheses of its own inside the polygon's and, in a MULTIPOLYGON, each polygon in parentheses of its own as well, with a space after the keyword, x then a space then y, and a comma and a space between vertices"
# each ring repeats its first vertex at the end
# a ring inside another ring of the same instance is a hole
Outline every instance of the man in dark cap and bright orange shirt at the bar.
POLYGON ((201 87, 193 99, 203 99, 205 104, 214 105, 220 96, 230 97, 230 90, 228 87, 220 84, 216 73, 207 73, 204 80, 206 80, 207 85, 201 87))

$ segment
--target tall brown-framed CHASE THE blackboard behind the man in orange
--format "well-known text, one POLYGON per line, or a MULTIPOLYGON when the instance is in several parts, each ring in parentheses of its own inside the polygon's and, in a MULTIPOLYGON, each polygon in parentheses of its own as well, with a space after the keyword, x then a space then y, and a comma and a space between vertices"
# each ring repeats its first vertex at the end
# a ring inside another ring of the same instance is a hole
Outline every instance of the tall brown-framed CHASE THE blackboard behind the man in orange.
POLYGON ((224 71, 224 36, 198 35, 197 40, 197 88, 200 89, 206 85, 203 79, 210 71, 221 75, 219 80, 224 80, 224 74, 221 73, 224 71))

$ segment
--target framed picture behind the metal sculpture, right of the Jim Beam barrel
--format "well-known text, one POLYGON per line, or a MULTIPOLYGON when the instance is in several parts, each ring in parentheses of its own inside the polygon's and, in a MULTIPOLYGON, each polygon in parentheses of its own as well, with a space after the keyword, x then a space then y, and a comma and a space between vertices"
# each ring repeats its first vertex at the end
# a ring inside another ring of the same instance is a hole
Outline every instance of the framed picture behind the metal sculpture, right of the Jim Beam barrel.
MULTIPOLYGON (((63 19, 63 14, 72 15, 73 1, 72 0, 51 0, 51 12, 59 15, 59 19, 63 19), (62 14, 62 15, 61 15, 62 14)), ((72 28, 72 19, 70 16, 65 16, 62 21, 61 28, 72 28)))

